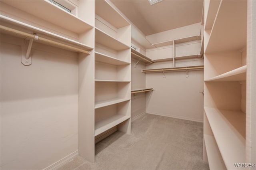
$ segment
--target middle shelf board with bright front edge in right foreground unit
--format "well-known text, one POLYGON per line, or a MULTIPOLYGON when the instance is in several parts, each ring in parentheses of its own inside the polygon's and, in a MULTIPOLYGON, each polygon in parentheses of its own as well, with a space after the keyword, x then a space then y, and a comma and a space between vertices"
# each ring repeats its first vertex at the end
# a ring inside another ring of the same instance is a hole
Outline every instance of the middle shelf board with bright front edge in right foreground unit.
POLYGON ((246 69, 247 66, 244 65, 237 69, 228 71, 216 77, 212 77, 205 81, 245 81, 246 80, 246 69))

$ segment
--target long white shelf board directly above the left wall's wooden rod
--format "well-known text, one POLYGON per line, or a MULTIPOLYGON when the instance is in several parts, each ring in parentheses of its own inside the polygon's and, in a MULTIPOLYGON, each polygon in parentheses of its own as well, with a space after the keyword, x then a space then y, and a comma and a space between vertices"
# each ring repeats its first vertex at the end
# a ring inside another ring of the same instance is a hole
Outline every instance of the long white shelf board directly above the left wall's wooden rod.
POLYGON ((26 30, 27 33, 34 32, 38 36, 42 36, 42 37, 46 36, 46 38, 49 37, 49 38, 51 38, 51 40, 55 40, 55 41, 60 42, 60 43, 70 44, 70 45, 73 45, 74 47, 78 47, 78 48, 85 49, 85 50, 93 49, 93 47, 91 47, 89 45, 71 40, 69 38, 65 38, 63 36, 60 36, 58 34, 54 34, 52 32, 48 32, 46 30, 42 30, 42 29, 37 28, 35 26, 31 26, 29 24, 14 20, 12 18, 3 16, 3 15, 0 15, 0 21, 1 21, 1 25, 14 26, 15 27, 14 29, 16 29, 16 27, 17 28, 22 28, 22 31, 26 30))

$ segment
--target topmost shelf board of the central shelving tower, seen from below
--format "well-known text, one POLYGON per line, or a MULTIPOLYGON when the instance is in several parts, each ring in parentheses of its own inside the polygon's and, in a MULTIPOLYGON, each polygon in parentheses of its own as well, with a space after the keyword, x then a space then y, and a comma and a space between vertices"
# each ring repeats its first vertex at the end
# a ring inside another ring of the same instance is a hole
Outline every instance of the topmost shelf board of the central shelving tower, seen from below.
POLYGON ((95 13, 116 28, 130 23, 105 0, 95 0, 95 13))

